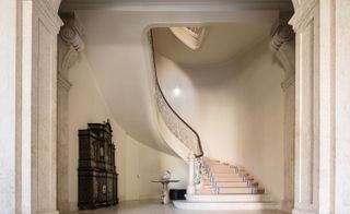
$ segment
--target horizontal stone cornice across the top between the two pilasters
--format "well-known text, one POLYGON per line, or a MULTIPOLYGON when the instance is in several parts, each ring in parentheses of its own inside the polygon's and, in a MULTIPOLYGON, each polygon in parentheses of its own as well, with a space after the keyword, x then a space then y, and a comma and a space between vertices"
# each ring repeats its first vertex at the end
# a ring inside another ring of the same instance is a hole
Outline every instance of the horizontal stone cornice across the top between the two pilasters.
POLYGON ((73 10, 116 11, 236 11, 279 10, 293 11, 291 1, 285 0, 211 0, 211 1, 115 1, 115 0, 70 0, 62 2, 61 11, 73 10))

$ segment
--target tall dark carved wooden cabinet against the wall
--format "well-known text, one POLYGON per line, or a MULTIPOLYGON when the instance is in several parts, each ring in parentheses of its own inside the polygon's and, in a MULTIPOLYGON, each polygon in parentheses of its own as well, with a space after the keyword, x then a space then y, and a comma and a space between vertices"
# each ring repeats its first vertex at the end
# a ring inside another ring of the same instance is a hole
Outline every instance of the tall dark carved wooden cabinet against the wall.
POLYGON ((79 210, 118 203, 118 174, 109 120, 79 130, 79 210))

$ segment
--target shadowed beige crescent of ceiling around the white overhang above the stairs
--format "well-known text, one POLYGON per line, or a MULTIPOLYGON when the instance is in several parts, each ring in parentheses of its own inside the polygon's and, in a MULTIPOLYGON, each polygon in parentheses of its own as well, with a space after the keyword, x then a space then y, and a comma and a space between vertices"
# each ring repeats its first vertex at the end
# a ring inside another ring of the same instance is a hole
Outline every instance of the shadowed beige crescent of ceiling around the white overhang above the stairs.
POLYGON ((234 59, 269 35, 270 24, 230 23, 206 28, 199 50, 183 44, 167 27, 153 31, 154 47, 161 55, 182 64, 212 64, 234 59))

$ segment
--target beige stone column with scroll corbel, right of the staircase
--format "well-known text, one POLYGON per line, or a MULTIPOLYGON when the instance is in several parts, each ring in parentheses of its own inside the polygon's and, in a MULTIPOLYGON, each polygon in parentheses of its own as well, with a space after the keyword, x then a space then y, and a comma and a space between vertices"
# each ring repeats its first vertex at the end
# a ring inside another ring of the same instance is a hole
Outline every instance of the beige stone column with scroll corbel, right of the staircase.
POLYGON ((281 210, 291 212, 294 203, 294 127, 295 127, 295 43, 290 14, 281 14, 272 28, 270 43, 275 57, 284 71, 284 195, 281 210))

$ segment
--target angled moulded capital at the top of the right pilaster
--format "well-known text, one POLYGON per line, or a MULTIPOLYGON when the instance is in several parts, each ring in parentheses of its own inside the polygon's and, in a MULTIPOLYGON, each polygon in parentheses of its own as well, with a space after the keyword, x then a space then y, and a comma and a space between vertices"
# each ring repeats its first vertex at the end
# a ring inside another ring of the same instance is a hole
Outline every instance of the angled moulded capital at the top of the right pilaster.
POLYGON ((296 9, 294 15, 289 21, 295 32, 302 31, 314 16, 314 10, 319 3, 319 0, 303 1, 296 9))

